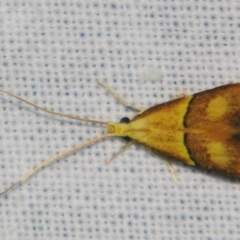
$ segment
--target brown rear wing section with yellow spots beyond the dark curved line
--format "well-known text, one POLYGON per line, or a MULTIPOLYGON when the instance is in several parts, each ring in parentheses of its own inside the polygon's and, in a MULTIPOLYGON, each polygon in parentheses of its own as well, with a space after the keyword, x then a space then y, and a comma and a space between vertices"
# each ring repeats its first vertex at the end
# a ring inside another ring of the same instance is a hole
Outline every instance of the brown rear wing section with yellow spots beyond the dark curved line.
POLYGON ((185 143, 196 164, 240 176, 240 84, 194 94, 185 127, 185 143))

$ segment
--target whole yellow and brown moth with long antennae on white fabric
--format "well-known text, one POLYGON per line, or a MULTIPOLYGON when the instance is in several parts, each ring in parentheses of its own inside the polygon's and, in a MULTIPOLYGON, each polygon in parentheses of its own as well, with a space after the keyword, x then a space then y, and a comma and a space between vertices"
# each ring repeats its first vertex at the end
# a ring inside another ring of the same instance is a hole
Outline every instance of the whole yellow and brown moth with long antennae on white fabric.
POLYGON ((56 160, 110 137, 128 139, 119 153, 132 143, 138 143, 154 153, 170 156, 186 164, 240 177, 240 83, 183 96, 146 110, 129 106, 107 86, 98 83, 126 107, 138 111, 138 114, 131 120, 123 118, 120 123, 90 120, 46 110, 0 89, 0 92, 45 113, 105 125, 107 129, 106 134, 40 163, 0 195, 6 194, 56 160))

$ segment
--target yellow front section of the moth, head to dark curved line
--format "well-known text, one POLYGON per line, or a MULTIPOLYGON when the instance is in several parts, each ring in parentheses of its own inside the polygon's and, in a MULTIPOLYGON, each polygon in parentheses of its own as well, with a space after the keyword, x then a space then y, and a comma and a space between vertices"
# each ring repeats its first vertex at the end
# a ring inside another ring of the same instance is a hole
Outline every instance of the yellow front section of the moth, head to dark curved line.
POLYGON ((194 165, 184 143, 184 116, 192 96, 147 109, 129 124, 116 124, 115 133, 160 153, 194 165))

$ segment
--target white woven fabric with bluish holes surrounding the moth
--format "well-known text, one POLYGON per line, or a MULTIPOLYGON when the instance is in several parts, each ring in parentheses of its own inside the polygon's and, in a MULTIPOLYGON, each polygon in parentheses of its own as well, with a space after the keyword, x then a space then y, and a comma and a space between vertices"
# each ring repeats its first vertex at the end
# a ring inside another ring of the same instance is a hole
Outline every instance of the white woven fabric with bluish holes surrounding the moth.
MULTIPOLYGON (((0 87, 40 106, 118 122, 136 106, 240 81, 240 2, 0 1, 0 87)), ((104 128, 0 96, 0 190, 104 128)), ((240 183, 109 139, 0 198, 1 239, 239 239, 240 183)))

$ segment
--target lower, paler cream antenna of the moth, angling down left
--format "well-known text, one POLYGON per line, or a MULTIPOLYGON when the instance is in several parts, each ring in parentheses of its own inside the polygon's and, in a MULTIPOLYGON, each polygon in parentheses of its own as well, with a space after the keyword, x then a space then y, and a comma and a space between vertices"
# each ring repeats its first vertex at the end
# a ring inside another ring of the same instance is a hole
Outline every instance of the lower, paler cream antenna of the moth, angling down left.
POLYGON ((90 139, 86 142, 83 142, 75 147, 72 147, 71 149, 68 149, 67 151, 65 152, 62 152, 60 154, 57 154, 47 160, 45 160, 44 162, 40 163, 39 165, 37 165, 35 168, 33 168, 32 170, 30 170, 27 174, 25 174, 24 176, 22 176, 20 178, 19 181, 17 181, 16 183, 13 183, 10 187, 8 187, 5 191, 1 192, 0 193, 0 196, 10 192, 13 188, 19 186, 21 183, 23 182, 26 182, 30 177, 32 177, 34 174, 36 174, 37 172, 39 172, 43 167, 49 165, 49 164, 52 164, 54 162, 56 162, 57 160, 63 158, 63 157, 66 157, 67 155, 70 155, 74 152, 76 152, 77 150, 80 150, 86 146, 89 146, 89 145, 92 145, 93 143, 96 143, 104 138, 108 138, 108 137, 113 137, 114 134, 113 133, 107 133, 107 134, 104 134, 100 137, 96 137, 96 138, 93 138, 93 139, 90 139))

